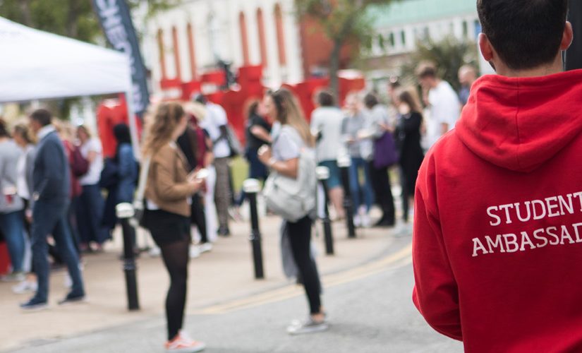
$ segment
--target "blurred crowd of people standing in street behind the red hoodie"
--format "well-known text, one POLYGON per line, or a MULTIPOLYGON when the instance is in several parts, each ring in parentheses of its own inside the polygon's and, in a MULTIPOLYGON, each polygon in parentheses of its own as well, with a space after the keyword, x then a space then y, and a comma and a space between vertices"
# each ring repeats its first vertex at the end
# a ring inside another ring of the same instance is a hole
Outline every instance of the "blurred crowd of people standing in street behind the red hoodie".
MULTIPOLYGON (((467 76, 468 68, 462 70, 467 76)), ((425 64, 417 74, 427 109, 416 89, 401 87, 398 80, 389 85, 389 105, 381 104, 375 92, 353 92, 339 107, 331 92, 317 92, 310 123, 289 90, 268 91, 262 100, 248 102, 243 155, 249 162, 249 177, 266 181, 269 175, 280 174, 298 179, 304 151, 313 151, 313 169, 317 164, 329 170, 329 202, 334 219, 341 220, 346 210, 338 160, 348 157, 354 224, 393 227, 391 177, 396 174, 391 167, 398 165, 402 215, 407 222, 426 148, 423 141, 430 144, 435 136, 447 133, 461 104, 450 85, 437 78, 435 66, 425 64), (372 223, 374 204, 381 217, 372 223)), ((71 292, 59 303, 84 301, 80 258, 83 253, 103 251, 117 225, 115 207, 134 201, 139 170, 147 160, 143 226, 150 231, 171 280, 166 349, 194 352, 204 344, 181 330, 188 261, 210 251, 217 235, 229 236, 229 208, 240 207, 245 195, 234 197, 230 168, 237 152, 222 107, 197 95, 192 102, 162 103, 154 109, 146 117, 141 165, 126 124, 114 126, 116 152, 106 158, 101 141, 89 128, 53 119, 45 109, 33 112, 29 124, 18 124, 12 131, 0 123, 0 164, 17 166, 1 168, 5 197, 0 199, 0 231, 12 269, 3 280, 20 281, 14 292, 35 293, 23 309, 44 309, 50 254, 53 265, 66 265, 69 273, 71 292), (192 246, 194 239, 198 246, 192 246)), ((308 320, 293 321, 290 334, 328 328, 311 246, 316 218, 315 208, 309 208, 301 217, 284 219, 281 227, 281 244, 289 254, 286 274, 297 277, 309 304, 308 320)), ((135 244, 135 234, 132 238, 135 244)))

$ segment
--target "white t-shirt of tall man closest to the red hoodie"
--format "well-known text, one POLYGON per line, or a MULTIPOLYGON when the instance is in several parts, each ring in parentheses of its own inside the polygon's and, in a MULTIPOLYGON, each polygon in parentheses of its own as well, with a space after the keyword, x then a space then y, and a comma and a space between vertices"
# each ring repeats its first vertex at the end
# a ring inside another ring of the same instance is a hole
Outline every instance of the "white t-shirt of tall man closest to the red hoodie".
POLYGON ((459 96, 446 81, 440 81, 437 87, 428 92, 430 114, 426 119, 426 147, 434 145, 442 133, 441 124, 449 124, 451 131, 461 114, 459 96))

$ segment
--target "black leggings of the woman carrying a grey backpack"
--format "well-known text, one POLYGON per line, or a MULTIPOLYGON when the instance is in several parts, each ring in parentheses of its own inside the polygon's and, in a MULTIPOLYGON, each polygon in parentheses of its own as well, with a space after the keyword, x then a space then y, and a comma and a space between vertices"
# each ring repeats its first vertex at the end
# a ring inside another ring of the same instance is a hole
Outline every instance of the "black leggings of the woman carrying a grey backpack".
POLYGON ((311 222, 311 218, 305 216, 297 222, 287 222, 287 227, 289 227, 289 243, 291 243, 293 259, 303 280, 310 313, 315 314, 321 311, 321 285, 317 266, 311 257, 311 222))

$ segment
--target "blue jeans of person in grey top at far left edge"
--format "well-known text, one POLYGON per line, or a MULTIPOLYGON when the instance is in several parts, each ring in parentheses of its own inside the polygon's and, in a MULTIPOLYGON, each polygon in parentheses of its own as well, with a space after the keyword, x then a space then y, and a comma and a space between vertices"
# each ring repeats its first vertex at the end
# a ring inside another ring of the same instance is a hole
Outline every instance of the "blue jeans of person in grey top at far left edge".
POLYGON ((6 238, 12 270, 14 272, 22 271, 25 244, 23 211, 0 213, 0 231, 6 238))

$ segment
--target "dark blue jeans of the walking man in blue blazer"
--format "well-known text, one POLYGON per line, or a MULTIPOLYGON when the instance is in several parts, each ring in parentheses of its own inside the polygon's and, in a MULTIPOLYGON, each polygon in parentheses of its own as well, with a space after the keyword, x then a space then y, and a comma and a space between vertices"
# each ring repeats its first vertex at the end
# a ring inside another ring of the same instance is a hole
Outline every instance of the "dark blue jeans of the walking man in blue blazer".
POLYGON ((79 269, 79 259, 73 246, 71 231, 66 220, 68 201, 37 201, 32 210, 32 261, 38 278, 38 290, 35 301, 46 302, 49 296, 49 261, 47 259, 47 237, 54 238, 56 249, 66 263, 68 273, 73 280, 71 294, 85 294, 83 279, 79 269))

